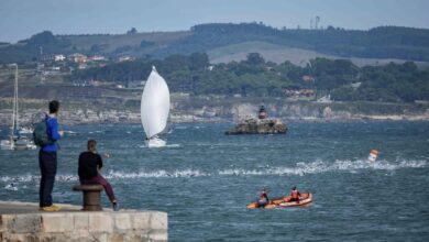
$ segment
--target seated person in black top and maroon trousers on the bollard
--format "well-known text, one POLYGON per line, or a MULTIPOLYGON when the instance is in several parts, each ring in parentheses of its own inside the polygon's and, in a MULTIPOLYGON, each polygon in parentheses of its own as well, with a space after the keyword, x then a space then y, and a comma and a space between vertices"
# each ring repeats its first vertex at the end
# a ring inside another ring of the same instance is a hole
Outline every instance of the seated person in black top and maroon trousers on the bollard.
POLYGON ((118 211, 119 206, 113 194, 113 188, 109 184, 109 182, 107 182, 106 178, 102 177, 99 173, 102 167, 102 160, 101 156, 97 154, 97 141, 89 140, 87 147, 88 151, 82 152, 79 155, 78 174, 80 184, 102 185, 105 187, 106 194, 109 197, 110 202, 112 202, 113 210, 118 211))

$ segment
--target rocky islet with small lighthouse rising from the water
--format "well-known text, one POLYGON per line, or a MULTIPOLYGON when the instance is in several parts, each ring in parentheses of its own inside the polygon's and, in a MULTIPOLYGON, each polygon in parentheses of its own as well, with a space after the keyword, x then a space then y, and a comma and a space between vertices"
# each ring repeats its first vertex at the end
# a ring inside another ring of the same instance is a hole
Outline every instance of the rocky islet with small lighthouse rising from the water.
POLYGON ((250 118, 241 121, 226 134, 285 134, 287 127, 279 119, 268 119, 265 107, 262 106, 257 119, 250 118))

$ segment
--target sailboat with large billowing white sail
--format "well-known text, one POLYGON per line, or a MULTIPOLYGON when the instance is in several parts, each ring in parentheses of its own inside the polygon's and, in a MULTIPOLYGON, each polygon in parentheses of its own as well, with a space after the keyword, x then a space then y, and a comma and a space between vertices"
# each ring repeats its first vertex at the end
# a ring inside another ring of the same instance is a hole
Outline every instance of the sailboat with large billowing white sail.
POLYGON ((148 75, 142 94, 140 113, 144 132, 146 133, 147 147, 162 147, 166 141, 158 134, 167 125, 169 113, 169 90, 164 78, 156 72, 155 66, 148 75))

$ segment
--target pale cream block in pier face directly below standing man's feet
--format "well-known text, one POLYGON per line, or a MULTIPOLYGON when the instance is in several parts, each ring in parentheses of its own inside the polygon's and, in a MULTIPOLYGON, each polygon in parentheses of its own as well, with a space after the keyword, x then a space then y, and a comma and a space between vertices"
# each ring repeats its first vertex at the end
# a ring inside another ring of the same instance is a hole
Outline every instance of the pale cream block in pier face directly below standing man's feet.
POLYGON ((73 216, 66 212, 42 215, 43 232, 72 232, 74 222, 73 216))

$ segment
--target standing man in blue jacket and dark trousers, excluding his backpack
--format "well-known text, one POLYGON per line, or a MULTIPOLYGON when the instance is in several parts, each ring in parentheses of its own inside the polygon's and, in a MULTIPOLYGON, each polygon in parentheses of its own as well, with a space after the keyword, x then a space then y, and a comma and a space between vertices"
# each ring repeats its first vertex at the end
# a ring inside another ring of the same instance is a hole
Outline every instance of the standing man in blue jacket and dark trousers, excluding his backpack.
POLYGON ((43 211, 58 211, 59 207, 52 202, 52 190, 54 189, 57 157, 56 152, 59 150, 56 143, 63 135, 63 131, 58 131, 58 110, 59 102, 53 100, 50 102, 50 114, 46 116, 46 133, 51 139, 52 144, 41 147, 38 152, 38 166, 41 168, 41 187, 38 190, 40 208, 43 211))

